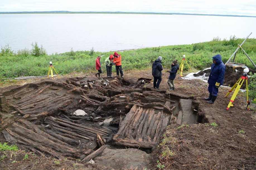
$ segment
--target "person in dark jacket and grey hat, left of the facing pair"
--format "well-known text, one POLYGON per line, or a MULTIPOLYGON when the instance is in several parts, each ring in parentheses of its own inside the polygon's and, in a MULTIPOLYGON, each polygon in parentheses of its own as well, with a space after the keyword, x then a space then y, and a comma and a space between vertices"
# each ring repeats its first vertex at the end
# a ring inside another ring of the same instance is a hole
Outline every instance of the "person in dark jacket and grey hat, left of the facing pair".
POLYGON ((162 70, 162 57, 159 56, 152 64, 152 75, 154 77, 153 87, 157 88, 158 90, 160 90, 159 85, 162 81, 162 70))

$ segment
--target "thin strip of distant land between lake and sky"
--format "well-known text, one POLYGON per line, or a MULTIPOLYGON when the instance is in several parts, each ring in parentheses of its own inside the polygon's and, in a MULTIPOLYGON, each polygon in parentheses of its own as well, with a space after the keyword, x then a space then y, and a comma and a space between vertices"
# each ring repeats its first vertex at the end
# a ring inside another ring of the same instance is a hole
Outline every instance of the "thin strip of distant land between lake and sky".
POLYGON ((134 13, 134 14, 183 14, 183 15, 207 15, 207 16, 236 16, 236 17, 256 17, 247 15, 228 15, 228 14, 197 14, 197 13, 179 13, 179 12, 122 12, 122 11, 19 11, 19 12, 0 12, 0 14, 6 13, 134 13))

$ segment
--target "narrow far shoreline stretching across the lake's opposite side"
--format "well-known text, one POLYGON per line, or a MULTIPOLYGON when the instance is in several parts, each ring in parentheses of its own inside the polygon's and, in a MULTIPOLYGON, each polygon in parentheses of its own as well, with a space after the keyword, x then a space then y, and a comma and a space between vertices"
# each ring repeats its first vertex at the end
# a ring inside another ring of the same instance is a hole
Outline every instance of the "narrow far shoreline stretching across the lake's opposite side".
POLYGON ((203 16, 228 16, 228 17, 256 17, 244 15, 218 15, 218 14, 186 14, 165 12, 71 12, 71 11, 34 11, 34 12, 0 12, 0 14, 160 14, 160 15, 203 15, 203 16))

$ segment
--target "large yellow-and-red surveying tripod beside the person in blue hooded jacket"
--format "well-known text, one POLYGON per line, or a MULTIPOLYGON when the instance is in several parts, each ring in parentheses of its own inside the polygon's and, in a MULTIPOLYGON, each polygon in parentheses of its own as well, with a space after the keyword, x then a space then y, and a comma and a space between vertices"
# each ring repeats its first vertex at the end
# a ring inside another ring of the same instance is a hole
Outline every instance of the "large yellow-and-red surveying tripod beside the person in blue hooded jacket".
POLYGON ((243 73, 243 75, 237 80, 235 85, 230 89, 230 91, 228 91, 228 94, 225 96, 225 97, 227 97, 230 94, 230 92, 232 92, 236 88, 235 92, 233 93, 233 95, 232 95, 232 97, 230 99, 230 102, 229 102, 228 107, 226 108, 226 110, 228 110, 230 108, 230 106, 233 106, 232 103, 234 102, 234 100, 236 98, 236 95, 237 95, 241 85, 243 84, 244 80, 246 80, 246 92, 247 92, 247 103, 248 103, 247 106, 246 106, 246 109, 250 110, 249 107, 248 107, 250 105, 250 102, 248 100, 247 73, 243 73))

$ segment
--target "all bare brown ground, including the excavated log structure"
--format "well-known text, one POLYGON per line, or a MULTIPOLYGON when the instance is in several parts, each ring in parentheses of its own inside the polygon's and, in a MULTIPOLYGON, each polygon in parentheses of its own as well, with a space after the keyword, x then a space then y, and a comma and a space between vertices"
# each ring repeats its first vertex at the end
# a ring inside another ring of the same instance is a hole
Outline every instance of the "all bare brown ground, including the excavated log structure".
MULTIPOLYGON (((227 68, 225 86, 241 77, 243 69, 236 70, 227 68)), ((1 143, 21 150, 1 151, 0 169, 158 169, 156 160, 163 169, 256 169, 256 107, 246 109, 246 93, 238 92, 226 110, 233 94, 224 97, 228 87, 209 104, 202 80, 177 75, 170 91, 167 73, 161 90, 151 79, 151 70, 109 79, 92 73, 1 88, 1 143), (72 115, 77 109, 88 115, 72 115), (174 154, 165 156, 168 148, 174 154)))

